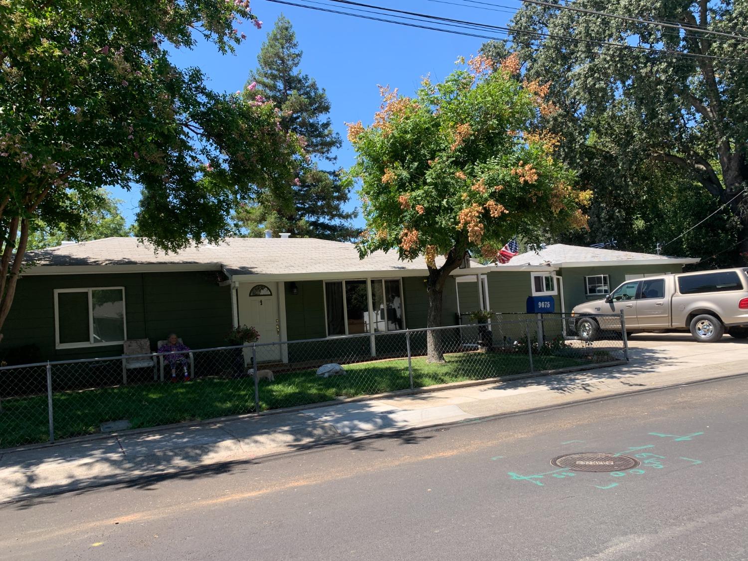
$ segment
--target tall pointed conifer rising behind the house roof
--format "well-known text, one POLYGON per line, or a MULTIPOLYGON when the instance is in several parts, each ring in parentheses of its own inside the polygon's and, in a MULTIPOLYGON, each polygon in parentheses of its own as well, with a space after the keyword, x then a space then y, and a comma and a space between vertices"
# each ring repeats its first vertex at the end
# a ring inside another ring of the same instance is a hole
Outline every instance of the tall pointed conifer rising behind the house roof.
POLYGON ((340 135, 332 130, 325 90, 298 70, 301 55, 291 22, 281 15, 257 55, 259 66, 249 75, 245 97, 275 102, 281 127, 300 135, 308 159, 301 162, 293 183, 240 205, 234 218, 239 231, 248 236, 263 236, 269 228, 298 237, 349 240, 356 233, 350 224, 356 212, 344 207, 352 184, 340 171, 319 168, 335 161, 340 135))

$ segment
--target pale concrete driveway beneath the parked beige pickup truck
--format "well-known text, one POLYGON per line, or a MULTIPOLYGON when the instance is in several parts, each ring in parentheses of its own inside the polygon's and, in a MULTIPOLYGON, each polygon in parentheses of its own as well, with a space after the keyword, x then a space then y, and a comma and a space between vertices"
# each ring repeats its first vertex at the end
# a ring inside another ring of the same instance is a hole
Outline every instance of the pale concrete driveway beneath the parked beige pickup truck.
POLYGON ((642 333, 628 340, 631 365, 649 369, 680 370, 690 367, 720 369, 742 362, 748 369, 748 340, 725 335, 717 343, 697 343, 687 333, 642 333))

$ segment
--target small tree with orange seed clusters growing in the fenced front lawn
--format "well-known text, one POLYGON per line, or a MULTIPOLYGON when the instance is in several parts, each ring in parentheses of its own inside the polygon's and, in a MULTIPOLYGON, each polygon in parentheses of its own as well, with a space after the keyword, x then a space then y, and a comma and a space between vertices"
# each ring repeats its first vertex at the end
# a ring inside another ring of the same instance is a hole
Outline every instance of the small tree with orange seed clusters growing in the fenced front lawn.
MULTIPOLYGON (((381 88, 374 123, 349 125, 367 220, 359 252, 425 256, 429 327, 441 325, 445 283, 466 252, 495 259, 538 224, 586 225, 589 191, 554 158, 557 138, 531 124, 553 110, 546 88, 518 82, 517 70, 516 57, 479 56, 444 82, 424 80, 414 99, 381 88)), ((439 334, 429 331, 430 361, 444 359, 439 334)))

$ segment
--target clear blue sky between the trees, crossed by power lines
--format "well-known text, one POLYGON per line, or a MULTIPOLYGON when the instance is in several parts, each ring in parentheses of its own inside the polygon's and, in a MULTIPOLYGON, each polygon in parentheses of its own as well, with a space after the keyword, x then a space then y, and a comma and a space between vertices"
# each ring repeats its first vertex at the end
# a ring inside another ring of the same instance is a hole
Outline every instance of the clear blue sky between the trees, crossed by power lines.
MULTIPOLYGON (((295 1, 313 5, 312 1, 295 1)), ((458 7, 445 1, 377 0, 372 4, 491 25, 506 25, 511 17, 506 12, 465 4, 458 7)), ((506 4, 519 7, 520 3, 508 0, 506 4)), ((244 29, 240 31, 245 31, 248 40, 237 49, 236 55, 221 55, 212 45, 203 43, 191 51, 175 52, 174 62, 180 67, 199 67, 216 91, 240 90, 249 71, 257 66, 257 52, 266 34, 283 13, 291 20, 299 48, 304 52, 301 71, 315 78, 328 93, 333 127, 343 138, 337 163, 346 168, 352 165, 354 154, 346 139, 344 123, 358 120, 371 123, 380 99, 377 84, 412 93, 421 76, 430 73, 432 79, 443 79, 453 70, 460 55, 468 57, 476 53, 483 43, 476 37, 323 13, 267 0, 252 0, 251 7, 263 21, 263 28, 258 31, 248 23, 242 25, 244 29)), ((124 201, 123 214, 132 221, 140 198, 138 190, 116 188, 113 193, 124 201)), ((358 197, 354 194, 352 206, 357 205, 358 197)), ((361 217, 358 225, 363 225, 361 217)))

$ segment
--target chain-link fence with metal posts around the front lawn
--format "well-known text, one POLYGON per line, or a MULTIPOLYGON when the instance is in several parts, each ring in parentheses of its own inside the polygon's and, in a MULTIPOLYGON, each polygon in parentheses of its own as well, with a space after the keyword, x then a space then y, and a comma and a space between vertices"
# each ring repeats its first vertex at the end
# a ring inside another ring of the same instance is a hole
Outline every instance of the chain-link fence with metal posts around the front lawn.
POLYGON ((0 448, 628 360, 622 317, 588 318, 601 328, 587 340, 576 335, 578 318, 500 315, 481 325, 0 367, 0 448))

